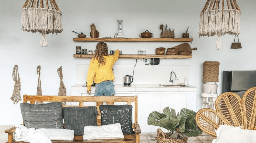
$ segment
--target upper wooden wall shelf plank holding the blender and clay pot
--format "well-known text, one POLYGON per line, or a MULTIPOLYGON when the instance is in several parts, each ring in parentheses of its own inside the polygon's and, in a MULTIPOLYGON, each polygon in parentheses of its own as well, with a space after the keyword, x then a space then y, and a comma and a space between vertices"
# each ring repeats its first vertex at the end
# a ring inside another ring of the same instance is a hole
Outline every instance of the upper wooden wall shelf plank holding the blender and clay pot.
POLYGON ((80 42, 191 42, 193 38, 73 38, 80 42))

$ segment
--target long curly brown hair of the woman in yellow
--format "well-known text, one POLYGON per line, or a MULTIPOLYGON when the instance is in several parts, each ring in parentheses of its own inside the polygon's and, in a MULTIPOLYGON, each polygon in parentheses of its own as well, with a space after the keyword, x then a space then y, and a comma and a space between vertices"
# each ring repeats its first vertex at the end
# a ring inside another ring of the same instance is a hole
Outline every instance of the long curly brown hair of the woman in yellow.
POLYGON ((106 64, 106 59, 103 57, 103 56, 108 56, 108 46, 106 43, 104 42, 99 42, 96 46, 96 49, 95 49, 95 56, 94 56, 94 59, 93 59, 93 63, 94 63, 94 60, 95 58, 98 60, 98 68, 100 68, 100 64, 103 66, 106 64))

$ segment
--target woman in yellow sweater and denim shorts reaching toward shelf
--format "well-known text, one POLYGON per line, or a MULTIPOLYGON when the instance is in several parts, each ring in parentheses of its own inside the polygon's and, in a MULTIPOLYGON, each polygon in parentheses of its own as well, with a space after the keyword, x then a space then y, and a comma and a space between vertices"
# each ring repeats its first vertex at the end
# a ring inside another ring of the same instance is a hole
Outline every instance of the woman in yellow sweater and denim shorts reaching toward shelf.
MULTIPOLYGON (((92 58, 87 74, 87 93, 91 95, 91 85, 96 83, 94 96, 114 96, 115 90, 113 81, 115 79, 112 68, 119 57, 119 50, 114 55, 108 56, 108 46, 104 42, 99 42, 96 46, 95 56, 92 58)), ((97 106, 103 102, 97 102, 97 106)), ((114 102, 107 102, 113 105, 114 102)))

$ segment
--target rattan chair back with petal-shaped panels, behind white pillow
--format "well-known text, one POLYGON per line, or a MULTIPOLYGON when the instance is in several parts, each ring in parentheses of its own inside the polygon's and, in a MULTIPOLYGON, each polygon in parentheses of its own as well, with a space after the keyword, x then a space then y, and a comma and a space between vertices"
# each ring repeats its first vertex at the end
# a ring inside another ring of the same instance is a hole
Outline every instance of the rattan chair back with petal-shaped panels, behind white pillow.
POLYGON ((233 92, 222 93, 215 101, 216 111, 203 108, 196 114, 198 127, 214 136, 220 125, 256 130, 256 87, 248 89, 243 98, 233 92))

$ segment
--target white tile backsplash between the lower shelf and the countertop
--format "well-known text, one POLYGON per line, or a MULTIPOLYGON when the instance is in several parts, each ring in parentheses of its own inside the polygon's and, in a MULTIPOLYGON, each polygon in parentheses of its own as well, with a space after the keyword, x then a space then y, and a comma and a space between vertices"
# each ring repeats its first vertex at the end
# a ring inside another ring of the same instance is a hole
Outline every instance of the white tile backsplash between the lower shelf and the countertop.
MULTIPOLYGON (((133 75, 134 65, 114 65, 115 84, 123 84, 125 75, 133 75)), ((87 80, 89 65, 76 65, 76 84, 84 84, 87 80)), ((159 65, 146 66, 136 65, 134 69, 134 81, 132 84, 178 84, 184 83, 184 79, 189 79, 188 65, 159 65), (169 82, 171 71, 174 71, 178 80, 169 82)))

